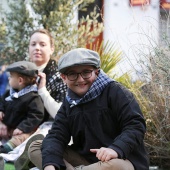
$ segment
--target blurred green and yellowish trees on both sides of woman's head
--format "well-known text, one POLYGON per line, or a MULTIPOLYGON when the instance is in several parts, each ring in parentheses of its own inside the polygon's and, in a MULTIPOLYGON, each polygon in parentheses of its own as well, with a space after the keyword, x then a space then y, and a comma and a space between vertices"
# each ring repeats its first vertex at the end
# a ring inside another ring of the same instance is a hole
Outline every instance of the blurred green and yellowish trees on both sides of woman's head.
POLYGON ((103 24, 97 21, 99 13, 94 12, 86 18, 75 20, 76 10, 86 10, 93 0, 8 0, 10 12, 6 12, 6 42, 1 51, 1 61, 13 61, 28 58, 30 32, 37 28, 48 29, 55 38, 54 58, 76 47, 85 47, 94 41, 103 31, 103 24), (32 10, 30 10, 30 8, 32 10), (91 32, 90 32, 91 30, 91 32))

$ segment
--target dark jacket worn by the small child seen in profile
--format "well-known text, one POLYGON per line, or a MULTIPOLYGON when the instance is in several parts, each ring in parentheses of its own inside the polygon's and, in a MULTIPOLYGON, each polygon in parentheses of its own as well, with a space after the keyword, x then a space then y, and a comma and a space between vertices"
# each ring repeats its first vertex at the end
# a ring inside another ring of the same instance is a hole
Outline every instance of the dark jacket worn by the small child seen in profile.
POLYGON ((38 128, 44 119, 44 105, 37 92, 29 92, 12 101, 5 101, 9 91, 0 102, 0 111, 5 116, 3 123, 10 129, 18 128, 30 133, 38 128))

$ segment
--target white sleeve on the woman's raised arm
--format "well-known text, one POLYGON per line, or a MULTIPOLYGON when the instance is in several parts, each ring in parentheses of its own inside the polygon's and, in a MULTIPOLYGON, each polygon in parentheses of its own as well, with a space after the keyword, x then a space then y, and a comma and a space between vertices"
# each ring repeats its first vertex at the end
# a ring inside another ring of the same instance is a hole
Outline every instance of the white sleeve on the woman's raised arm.
POLYGON ((57 111, 59 110, 62 102, 58 103, 56 102, 50 95, 50 93, 47 91, 46 87, 42 87, 38 90, 38 94, 41 96, 44 106, 48 113, 51 115, 51 117, 55 118, 55 115, 57 114, 57 111))

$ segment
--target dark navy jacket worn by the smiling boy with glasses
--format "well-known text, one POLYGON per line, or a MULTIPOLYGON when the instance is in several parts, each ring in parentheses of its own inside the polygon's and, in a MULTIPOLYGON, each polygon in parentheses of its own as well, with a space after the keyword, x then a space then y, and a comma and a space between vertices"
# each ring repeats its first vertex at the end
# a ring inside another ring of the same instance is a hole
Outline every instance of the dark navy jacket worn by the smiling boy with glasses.
POLYGON ((72 148, 90 163, 98 161, 90 149, 109 147, 135 170, 148 170, 143 139, 146 125, 133 94, 117 82, 110 83, 94 100, 70 108, 63 102, 43 141, 43 167, 64 166, 63 152, 73 136, 72 148))

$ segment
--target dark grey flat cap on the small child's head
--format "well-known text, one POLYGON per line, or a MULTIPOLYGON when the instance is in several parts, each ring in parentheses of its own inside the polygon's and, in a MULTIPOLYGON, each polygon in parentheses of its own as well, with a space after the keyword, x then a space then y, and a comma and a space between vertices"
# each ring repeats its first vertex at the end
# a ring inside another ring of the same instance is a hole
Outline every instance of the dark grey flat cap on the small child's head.
POLYGON ((20 73, 20 74, 30 76, 30 77, 38 76, 37 66, 34 63, 29 62, 29 61, 15 62, 9 65, 6 70, 10 72, 20 73))

